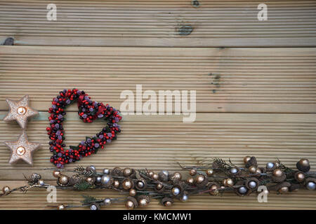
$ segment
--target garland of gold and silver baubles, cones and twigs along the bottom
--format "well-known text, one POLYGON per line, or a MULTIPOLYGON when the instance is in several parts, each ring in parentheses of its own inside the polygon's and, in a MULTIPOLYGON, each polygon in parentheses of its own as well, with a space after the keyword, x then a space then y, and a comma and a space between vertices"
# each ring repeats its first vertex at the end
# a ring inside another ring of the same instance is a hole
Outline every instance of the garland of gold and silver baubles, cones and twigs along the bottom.
MULTIPOLYGON (((227 191, 235 192, 239 196, 261 192, 260 186, 265 186, 263 193, 266 195, 271 190, 277 193, 289 193, 306 188, 315 190, 316 173, 309 172, 310 163, 307 159, 301 159, 296 163, 298 170, 286 167, 279 160, 268 162, 264 168, 257 165, 255 157, 244 158, 245 167, 237 167, 231 161, 225 162, 214 159, 211 166, 206 167, 182 167, 188 170, 188 178, 183 180, 183 174, 167 171, 155 173, 147 169, 103 169, 97 172, 96 167, 77 167, 73 171, 55 170, 53 176, 57 178, 56 188, 67 190, 88 189, 113 189, 127 196, 117 198, 96 199, 88 195, 84 196, 81 205, 60 204, 57 209, 73 207, 90 207, 91 210, 108 207, 112 203, 124 202, 127 209, 146 207, 152 199, 159 199, 164 207, 171 207, 174 200, 187 202, 190 195, 209 193, 218 195, 227 191), (67 176, 61 172, 74 172, 67 176), (259 189, 258 189, 259 188, 259 189)), ((9 195, 15 190, 26 193, 30 188, 48 188, 51 185, 41 180, 41 175, 32 174, 27 179, 29 185, 10 189, 8 186, 2 189, 0 196, 9 195)))

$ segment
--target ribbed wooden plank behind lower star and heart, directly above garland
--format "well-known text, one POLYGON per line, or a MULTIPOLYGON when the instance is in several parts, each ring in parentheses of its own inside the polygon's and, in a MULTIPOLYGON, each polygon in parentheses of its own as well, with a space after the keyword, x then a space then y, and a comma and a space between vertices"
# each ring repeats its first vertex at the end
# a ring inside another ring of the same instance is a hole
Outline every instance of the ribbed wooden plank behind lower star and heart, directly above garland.
MULTIPOLYGON (((16 123, 4 123, 1 112, 0 141, 13 141, 21 130, 16 123)), ((0 180, 22 180, 20 172, 43 172, 52 167, 48 150, 48 113, 31 120, 27 134, 29 141, 42 144, 34 154, 34 167, 25 163, 9 166, 10 151, 0 145, 0 180)), ((86 136, 99 132, 103 122, 82 123, 77 113, 69 112, 65 121, 65 143, 77 145, 86 136)), ((198 113, 195 123, 183 123, 181 116, 124 116, 122 132, 105 151, 84 158, 80 165, 105 167, 133 167, 148 169, 179 169, 183 165, 210 162, 213 158, 231 158, 242 165, 244 155, 254 155, 259 165, 276 158, 295 167, 300 158, 309 158, 316 166, 315 114, 245 114, 198 113)), ((76 167, 77 164, 67 167, 76 167)), ((51 172, 45 172, 52 179, 51 172)))

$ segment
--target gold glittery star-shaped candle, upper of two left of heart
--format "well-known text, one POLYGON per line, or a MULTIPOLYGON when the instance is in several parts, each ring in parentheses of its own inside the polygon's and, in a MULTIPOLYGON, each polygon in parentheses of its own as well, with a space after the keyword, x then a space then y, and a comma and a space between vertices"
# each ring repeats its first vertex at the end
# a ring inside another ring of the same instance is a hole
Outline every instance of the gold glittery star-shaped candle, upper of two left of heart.
POLYGON ((18 102, 11 99, 6 99, 10 111, 8 115, 4 118, 4 121, 8 122, 11 120, 16 120, 22 129, 27 127, 27 118, 36 116, 39 112, 29 107, 29 96, 25 95, 18 102))

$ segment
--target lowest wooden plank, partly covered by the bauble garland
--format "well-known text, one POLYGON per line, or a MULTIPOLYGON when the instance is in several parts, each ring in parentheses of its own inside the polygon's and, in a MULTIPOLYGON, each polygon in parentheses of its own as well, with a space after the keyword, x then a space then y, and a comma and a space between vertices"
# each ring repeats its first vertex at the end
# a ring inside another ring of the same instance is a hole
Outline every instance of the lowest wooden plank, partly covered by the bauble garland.
MULTIPOLYGON (((46 181, 54 184, 53 181, 46 181)), ((18 187, 24 185, 25 181, 0 181, 0 186, 10 185, 18 187)), ((48 203, 46 201, 48 192, 44 189, 29 190, 26 194, 15 192, 6 197, 0 197, 0 209, 52 209, 52 205, 72 204, 79 205, 83 200, 82 195, 91 195, 97 199, 106 197, 115 198, 122 197, 113 190, 88 190, 86 192, 58 190, 57 202, 48 203)), ((223 196, 192 195, 188 202, 181 203, 176 200, 170 209, 316 209, 316 196, 308 190, 300 190, 297 193, 289 193, 287 195, 277 195, 270 193, 267 203, 258 203, 257 196, 250 195, 247 197, 239 197, 234 193, 225 193, 223 196)), ((77 208, 76 208, 77 209, 77 208)), ((88 209, 88 208, 82 208, 88 209)), ((124 204, 113 203, 110 207, 102 209, 124 209, 124 204)), ((162 207, 158 200, 152 200, 148 207, 144 209, 168 209, 162 207)))

